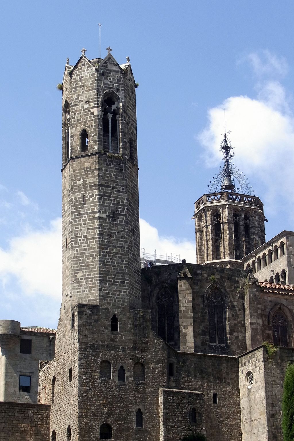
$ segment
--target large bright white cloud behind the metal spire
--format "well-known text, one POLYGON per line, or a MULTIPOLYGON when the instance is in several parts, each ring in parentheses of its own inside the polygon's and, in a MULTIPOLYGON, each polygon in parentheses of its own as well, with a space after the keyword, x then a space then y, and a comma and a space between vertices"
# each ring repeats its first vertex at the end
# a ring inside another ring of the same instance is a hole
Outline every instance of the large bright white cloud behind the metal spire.
POLYGON ((232 131, 234 163, 250 176, 253 186, 264 188, 267 211, 281 213, 287 206, 289 217, 293 217, 294 118, 283 86, 264 82, 256 98, 229 97, 209 109, 208 125, 198 140, 204 147, 206 164, 212 167, 220 164, 223 108, 232 131))

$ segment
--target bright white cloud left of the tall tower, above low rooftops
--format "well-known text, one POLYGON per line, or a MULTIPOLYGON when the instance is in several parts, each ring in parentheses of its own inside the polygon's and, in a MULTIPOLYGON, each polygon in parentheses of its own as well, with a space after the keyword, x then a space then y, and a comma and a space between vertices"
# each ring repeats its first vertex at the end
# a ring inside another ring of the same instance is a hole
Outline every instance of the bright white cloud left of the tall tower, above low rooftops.
POLYGON ((61 298, 61 219, 52 221, 48 229, 14 237, 7 250, 0 249, 3 287, 8 287, 13 278, 21 295, 61 298))

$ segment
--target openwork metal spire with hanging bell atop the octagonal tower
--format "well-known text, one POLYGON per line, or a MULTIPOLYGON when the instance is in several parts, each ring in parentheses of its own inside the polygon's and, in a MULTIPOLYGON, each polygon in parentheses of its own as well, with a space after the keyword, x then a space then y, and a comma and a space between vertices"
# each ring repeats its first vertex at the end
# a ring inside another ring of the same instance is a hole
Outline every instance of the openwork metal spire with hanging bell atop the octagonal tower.
MULTIPOLYGON (((231 133, 231 132, 228 132, 231 133)), ((220 151, 223 152, 223 166, 221 166, 208 185, 208 193, 219 193, 220 191, 232 191, 234 193, 253 195, 253 188, 249 180, 240 169, 234 167, 232 158, 234 149, 230 140, 227 138, 226 122, 223 141, 220 145, 220 151)))

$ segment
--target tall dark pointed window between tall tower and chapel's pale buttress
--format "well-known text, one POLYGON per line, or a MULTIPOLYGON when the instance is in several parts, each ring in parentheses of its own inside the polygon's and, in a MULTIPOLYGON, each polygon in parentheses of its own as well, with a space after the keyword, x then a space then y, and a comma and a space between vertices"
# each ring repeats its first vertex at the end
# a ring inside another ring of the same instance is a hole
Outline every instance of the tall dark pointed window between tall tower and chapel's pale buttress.
POLYGON ((175 341, 174 300, 171 292, 163 288, 157 297, 158 335, 167 343, 175 341))

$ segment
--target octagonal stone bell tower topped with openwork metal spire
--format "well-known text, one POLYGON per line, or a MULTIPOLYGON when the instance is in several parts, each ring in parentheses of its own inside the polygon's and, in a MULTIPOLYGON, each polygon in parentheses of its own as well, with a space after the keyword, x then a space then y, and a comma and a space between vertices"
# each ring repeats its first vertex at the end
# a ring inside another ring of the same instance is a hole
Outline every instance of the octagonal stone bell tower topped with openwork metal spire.
POLYGON ((198 264, 241 268, 241 258, 265 242, 264 208, 244 175, 232 166, 234 152, 225 133, 223 167, 210 192, 195 202, 198 264))

